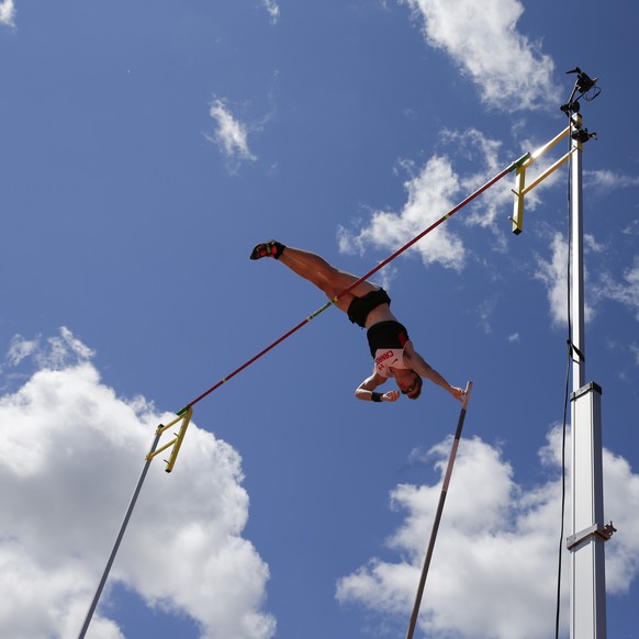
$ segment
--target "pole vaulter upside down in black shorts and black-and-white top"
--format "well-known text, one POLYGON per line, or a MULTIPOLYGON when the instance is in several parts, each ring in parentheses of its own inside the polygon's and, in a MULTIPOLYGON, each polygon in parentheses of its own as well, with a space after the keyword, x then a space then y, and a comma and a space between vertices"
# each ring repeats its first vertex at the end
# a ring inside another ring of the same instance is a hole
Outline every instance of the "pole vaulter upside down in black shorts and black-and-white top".
MULTIPOLYGON (((359 278, 330 266, 324 258, 300 248, 284 246, 274 239, 258 244, 250 259, 272 257, 293 272, 324 291, 329 300, 351 287, 359 278)), ((358 400, 369 402, 395 402, 400 391, 411 400, 422 393, 422 378, 448 391, 456 400, 463 401, 466 391, 451 386, 413 348, 406 328, 391 313, 391 299, 380 287, 362 281, 341 295, 335 305, 348 318, 367 329, 370 352, 374 359, 373 372, 355 391, 358 400), (377 388, 394 378, 400 391, 378 393, 377 388)))

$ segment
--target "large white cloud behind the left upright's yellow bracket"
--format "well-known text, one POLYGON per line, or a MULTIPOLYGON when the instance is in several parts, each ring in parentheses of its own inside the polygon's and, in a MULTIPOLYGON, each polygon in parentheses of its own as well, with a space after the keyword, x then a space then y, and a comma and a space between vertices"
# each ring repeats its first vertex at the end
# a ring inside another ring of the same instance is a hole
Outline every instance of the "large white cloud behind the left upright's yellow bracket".
MULTIPOLYGON (((67 329, 38 348, 22 344, 51 366, 0 397, 8 425, 0 448, 0 627, 12 637, 71 637, 155 429, 175 416, 157 414, 142 397, 119 399, 67 329)), ((269 570, 242 537, 248 496, 238 453, 191 424, 176 469, 164 468, 159 459, 150 464, 110 583, 189 615, 208 639, 272 637, 274 620, 262 610, 269 570)), ((123 637, 108 609, 99 609, 91 630, 123 637)))

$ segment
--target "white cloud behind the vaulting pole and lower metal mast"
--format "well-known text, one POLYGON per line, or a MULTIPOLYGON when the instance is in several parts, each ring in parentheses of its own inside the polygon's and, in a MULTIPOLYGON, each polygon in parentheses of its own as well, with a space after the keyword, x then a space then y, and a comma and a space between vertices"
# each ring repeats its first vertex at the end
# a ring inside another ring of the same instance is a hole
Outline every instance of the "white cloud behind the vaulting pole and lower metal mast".
MULTIPOLYGON (((428 637, 537 639, 551 635, 561 514, 560 430, 540 460, 557 479, 525 490, 501 452, 479 438, 462 441, 435 546, 419 625, 428 637), (557 532, 557 537, 552 531, 557 532), (460 606, 462 603, 462 606, 460 606)), ((430 451, 444 477, 450 441, 430 451)), ((604 456, 606 509, 624 537, 606 547, 609 592, 625 592, 639 573, 639 477, 625 460, 604 456), (617 520, 615 522, 617 524, 617 520)), ((569 489, 570 490, 570 489, 569 489)), ((392 505, 406 513, 389 539, 397 559, 378 558, 341 579, 337 597, 407 624, 429 539, 440 485, 399 485, 392 505)), ((567 514, 570 522, 570 514, 567 514)), ((563 561, 567 562, 564 552, 563 561)), ((568 564, 564 573, 568 574, 568 564)), ((569 580, 563 580, 567 624, 569 580)))

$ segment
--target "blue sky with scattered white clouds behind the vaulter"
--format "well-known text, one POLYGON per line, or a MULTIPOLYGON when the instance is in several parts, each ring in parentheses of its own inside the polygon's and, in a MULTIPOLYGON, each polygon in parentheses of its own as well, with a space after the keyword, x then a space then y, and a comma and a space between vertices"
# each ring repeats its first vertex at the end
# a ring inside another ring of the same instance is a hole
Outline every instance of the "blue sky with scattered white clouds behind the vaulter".
MULTIPOLYGON (((2 635, 77 636, 157 424, 324 303, 250 261, 257 242, 368 272, 559 133, 579 65, 602 87, 582 112, 608 635, 635 637, 634 18, 590 0, 0 2, 2 635)), ((567 170, 517 237, 513 186, 375 276, 417 350, 474 382, 418 636, 553 636, 567 170)), ((370 370, 329 309, 198 404, 175 471, 152 463, 88 637, 404 636, 459 405, 433 385, 358 402, 370 370)))

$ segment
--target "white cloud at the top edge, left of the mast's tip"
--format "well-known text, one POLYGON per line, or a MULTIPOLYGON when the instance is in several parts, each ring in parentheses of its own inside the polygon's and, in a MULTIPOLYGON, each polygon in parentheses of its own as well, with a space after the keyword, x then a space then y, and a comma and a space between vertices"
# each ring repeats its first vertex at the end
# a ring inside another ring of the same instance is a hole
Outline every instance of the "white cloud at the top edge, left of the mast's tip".
POLYGON ((517 31, 517 0, 400 0, 424 21, 430 46, 451 56, 478 86, 483 101, 508 111, 559 102, 554 65, 517 31))

